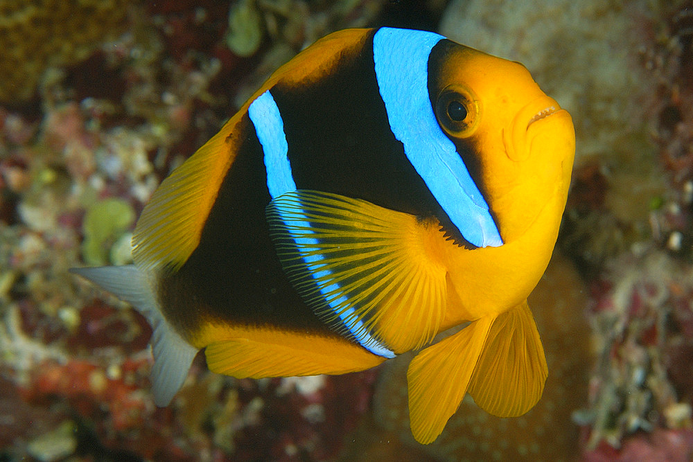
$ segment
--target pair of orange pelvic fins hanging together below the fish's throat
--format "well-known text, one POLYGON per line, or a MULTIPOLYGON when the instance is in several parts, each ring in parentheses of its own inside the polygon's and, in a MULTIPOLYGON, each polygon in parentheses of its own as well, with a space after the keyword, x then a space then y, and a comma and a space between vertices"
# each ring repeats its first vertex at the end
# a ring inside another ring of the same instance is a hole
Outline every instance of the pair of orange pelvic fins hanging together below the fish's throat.
POLYGON ((465 393, 493 416, 521 416, 541 398, 547 374, 527 301, 498 317, 477 319, 412 360, 407 382, 414 438, 434 441, 465 393))

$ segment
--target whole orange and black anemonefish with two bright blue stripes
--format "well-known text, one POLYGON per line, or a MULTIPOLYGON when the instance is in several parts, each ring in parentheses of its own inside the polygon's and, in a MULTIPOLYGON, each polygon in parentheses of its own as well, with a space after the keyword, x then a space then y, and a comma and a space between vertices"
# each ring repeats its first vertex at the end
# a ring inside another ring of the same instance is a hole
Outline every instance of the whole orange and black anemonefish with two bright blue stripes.
POLYGON ((73 271, 150 321, 157 405, 202 348, 211 371, 255 378, 418 350, 411 427, 430 443, 465 393, 495 416, 541 397, 526 299, 573 157, 570 115, 521 64, 420 30, 342 30, 162 182, 134 265, 73 271))

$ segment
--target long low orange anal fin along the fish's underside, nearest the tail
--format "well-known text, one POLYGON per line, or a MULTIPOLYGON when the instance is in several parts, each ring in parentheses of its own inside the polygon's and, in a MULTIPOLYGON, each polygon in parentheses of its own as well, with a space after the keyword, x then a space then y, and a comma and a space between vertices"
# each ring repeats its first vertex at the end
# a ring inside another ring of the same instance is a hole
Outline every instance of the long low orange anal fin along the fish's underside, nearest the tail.
MULTIPOLYGON (((363 371, 383 362, 385 358, 365 350, 355 354, 343 352, 341 345, 307 348, 286 343, 269 343, 247 338, 215 342, 204 350, 209 370, 231 377, 292 377, 295 375, 344 374, 363 371), (342 353, 342 354, 340 354, 342 353)), ((359 348, 349 346, 348 348, 359 348)))

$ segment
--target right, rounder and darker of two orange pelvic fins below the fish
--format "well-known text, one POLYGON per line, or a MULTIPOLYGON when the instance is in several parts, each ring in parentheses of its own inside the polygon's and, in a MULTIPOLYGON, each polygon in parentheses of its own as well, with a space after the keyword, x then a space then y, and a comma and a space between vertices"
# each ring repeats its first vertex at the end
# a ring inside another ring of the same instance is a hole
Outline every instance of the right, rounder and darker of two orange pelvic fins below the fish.
POLYGON ((548 373, 539 332, 524 301, 493 322, 468 392, 493 416, 521 416, 541 398, 548 373))

